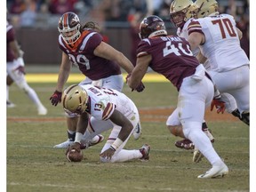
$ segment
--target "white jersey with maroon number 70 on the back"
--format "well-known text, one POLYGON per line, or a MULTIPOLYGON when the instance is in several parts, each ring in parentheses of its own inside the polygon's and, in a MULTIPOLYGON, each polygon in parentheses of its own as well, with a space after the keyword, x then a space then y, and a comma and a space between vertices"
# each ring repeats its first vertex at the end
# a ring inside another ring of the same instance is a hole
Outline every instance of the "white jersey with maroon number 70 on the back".
POLYGON ((210 61, 213 71, 223 72, 249 65, 240 46, 233 16, 221 14, 192 20, 188 25, 188 35, 193 32, 204 34, 205 43, 199 47, 204 57, 210 61))

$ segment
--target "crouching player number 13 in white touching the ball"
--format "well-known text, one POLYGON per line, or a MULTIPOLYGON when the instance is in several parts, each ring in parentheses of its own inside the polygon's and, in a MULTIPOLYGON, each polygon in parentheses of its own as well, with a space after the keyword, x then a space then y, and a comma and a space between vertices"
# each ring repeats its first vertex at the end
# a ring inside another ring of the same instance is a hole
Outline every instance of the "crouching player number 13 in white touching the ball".
POLYGON ((68 148, 69 151, 76 149, 79 152, 81 144, 86 144, 101 132, 113 129, 116 132, 110 133, 111 140, 108 140, 101 149, 100 162, 149 159, 148 144, 144 144, 140 149, 123 149, 140 120, 138 109, 124 93, 92 84, 73 84, 65 89, 62 100, 63 108, 67 113, 80 115, 76 127, 76 139, 68 148), (87 125, 90 128, 87 128, 87 125))

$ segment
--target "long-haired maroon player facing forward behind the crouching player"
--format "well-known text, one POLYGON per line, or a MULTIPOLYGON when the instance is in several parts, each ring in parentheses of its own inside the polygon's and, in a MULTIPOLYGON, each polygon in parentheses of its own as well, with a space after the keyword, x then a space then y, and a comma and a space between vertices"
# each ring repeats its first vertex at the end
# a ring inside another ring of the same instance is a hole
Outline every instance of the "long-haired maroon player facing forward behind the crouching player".
MULTIPOLYGON (((81 73, 86 76, 80 84, 95 84, 100 87, 116 89, 119 92, 122 91, 124 81, 120 67, 124 68, 127 73, 131 73, 134 67, 122 52, 118 52, 103 41, 96 25, 89 22, 82 27, 76 13, 66 12, 60 17, 58 29, 62 60, 56 90, 50 98, 52 105, 57 106, 61 101, 64 84, 68 80, 72 65, 79 68, 81 73)), ((142 92, 143 89, 142 83, 136 87, 138 92, 142 92)), ((76 114, 67 114, 68 140, 54 146, 54 148, 67 148, 74 142, 77 119, 76 114)), ((138 124, 138 129, 133 132, 135 139, 140 137, 138 130, 140 131, 140 124, 138 124)), ((92 144, 102 140, 103 136, 95 136, 92 144)))

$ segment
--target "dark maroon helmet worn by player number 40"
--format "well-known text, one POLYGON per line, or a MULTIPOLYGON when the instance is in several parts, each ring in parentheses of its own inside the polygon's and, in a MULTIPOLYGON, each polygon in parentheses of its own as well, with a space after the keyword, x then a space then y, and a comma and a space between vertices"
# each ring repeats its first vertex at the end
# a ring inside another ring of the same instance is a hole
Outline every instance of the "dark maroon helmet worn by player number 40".
POLYGON ((140 23, 140 39, 152 36, 167 36, 164 20, 156 15, 150 15, 144 18, 140 23))

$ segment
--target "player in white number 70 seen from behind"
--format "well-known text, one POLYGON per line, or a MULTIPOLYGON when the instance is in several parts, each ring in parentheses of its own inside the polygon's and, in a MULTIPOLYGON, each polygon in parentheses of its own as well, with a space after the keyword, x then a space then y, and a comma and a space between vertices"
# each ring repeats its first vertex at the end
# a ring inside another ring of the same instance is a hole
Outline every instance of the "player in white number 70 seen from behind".
POLYGON ((217 2, 211 9, 208 7, 208 13, 203 9, 206 1, 200 0, 196 4, 200 2, 198 16, 209 16, 189 23, 188 42, 191 50, 200 48, 202 55, 209 60, 211 69, 208 71, 216 87, 220 93, 228 92, 235 98, 239 118, 249 125, 250 61, 240 46, 242 32, 236 28, 233 16, 219 14, 217 2))

